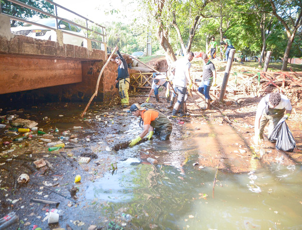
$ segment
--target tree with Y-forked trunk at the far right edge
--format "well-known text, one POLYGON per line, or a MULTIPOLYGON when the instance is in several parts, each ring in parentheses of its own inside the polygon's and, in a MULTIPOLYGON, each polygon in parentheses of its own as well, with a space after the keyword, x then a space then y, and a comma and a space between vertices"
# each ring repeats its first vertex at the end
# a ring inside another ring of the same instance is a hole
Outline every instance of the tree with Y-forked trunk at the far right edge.
POLYGON ((281 70, 287 70, 289 52, 298 28, 302 25, 302 1, 301 0, 269 0, 274 16, 282 23, 286 30, 287 45, 284 51, 281 70))

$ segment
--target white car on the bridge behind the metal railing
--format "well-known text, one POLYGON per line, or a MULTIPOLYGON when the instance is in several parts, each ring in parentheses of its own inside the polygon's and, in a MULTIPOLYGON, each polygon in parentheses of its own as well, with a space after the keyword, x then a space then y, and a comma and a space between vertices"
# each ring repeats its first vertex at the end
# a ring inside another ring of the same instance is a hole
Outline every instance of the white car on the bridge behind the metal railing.
MULTIPOLYGON (((34 22, 51 28, 56 28, 55 21, 56 21, 55 18, 45 18, 45 19, 39 19, 34 22)), ((60 30, 65 30, 72 34, 83 36, 84 38, 86 37, 85 33, 82 31, 80 27, 69 24, 61 20, 58 20, 58 28, 60 30)), ((11 31, 15 35, 25 35, 28 37, 43 39, 43 40, 51 40, 51 33, 52 33, 51 30, 49 29, 43 28, 41 26, 31 25, 31 24, 25 24, 24 26, 20 26, 20 27, 12 27, 11 31)), ((63 33, 63 43, 65 44, 83 46, 84 38, 63 33)))

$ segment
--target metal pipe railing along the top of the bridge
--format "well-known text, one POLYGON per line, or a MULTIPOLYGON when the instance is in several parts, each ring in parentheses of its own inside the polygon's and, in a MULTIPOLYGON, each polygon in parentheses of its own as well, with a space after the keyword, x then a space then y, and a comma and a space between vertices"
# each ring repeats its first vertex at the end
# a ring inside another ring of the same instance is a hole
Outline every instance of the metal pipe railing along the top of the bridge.
MULTIPOLYGON (((92 41, 94 41, 94 42, 103 43, 103 44, 104 44, 104 43, 107 43, 107 39, 106 39, 106 28, 105 28, 104 26, 101 26, 101 25, 99 25, 98 23, 95 23, 95 22, 93 22, 92 20, 90 20, 90 19, 88 19, 88 18, 85 18, 85 17, 82 16, 82 15, 79 15, 79 14, 73 12, 73 11, 70 11, 70 10, 68 10, 67 8, 63 7, 63 6, 60 6, 59 4, 56 4, 56 3, 52 2, 51 0, 45 0, 45 1, 48 2, 48 3, 50 3, 50 4, 52 4, 52 5, 54 6, 55 15, 49 14, 49 13, 47 13, 47 12, 44 12, 44 11, 38 9, 38 8, 29 6, 29 5, 25 4, 25 3, 22 3, 22 2, 20 2, 20 1, 18 1, 18 0, 8 0, 8 1, 9 1, 9 2, 12 2, 12 3, 15 3, 15 4, 19 5, 19 6, 22 6, 22 7, 24 7, 24 8, 27 8, 27 9, 30 9, 30 10, 33 10, 33 11, 36 11, 36 12, 39 12, 39 13, 41 13, 41 14, 47 15, 47 16, 49 16, 49 17, 51 17, 51 18, 55 18, 55 19, 56 19, 56 29, 59 29, 59 28, 58 28, 58 20, 61 20, 61 21, 64 21, 64 22, 66 22, 66 23, 69 23, 69 24, 78 26, 78 27, 80 27, 80 28, 82 28, 82 29, 85 29, 85 30, 87 31, 86 37, 89 38, 90 40, 92 40, 92 41), (77 15, 77 16, 81 17, 82 19, 84 19, 84 20, 86 21, 86 27, 85 27, 85 26, 82 26, 82 25, 80 25, 80 24, 78 24, 78 23, 72 22, 72 21, 70 21, 70 20, 68 20, 68 19, 64 19, 64 18, 58 17, 58 16, 57 16, 57 8, 61 8, 61 9, 65 10, 65 11, 68 11, 68 12, 74 14, 74 15, 77 15), (97 31, 95 31, 95 30, 92 30, 92 29, 88 28, 88 22, 91 22, 91 23, 93 23, 94 25, 96 25, 98 28, 100 28, 100 30, 102 31, 102 33, 99 33, 99 32, 97 32, 97 31), (92 32, 93 34, 100 35, 100 36, 102 37, 102 41, 96 40, 96 39, 93 39, 93 38, 90 38, 90 37, 89 37, 88 31, 92 32)), ((21 19, 21 18, 12 16, 12 15, 7 15, 7 14, 2 13, 2 12, 1 12, 1 1, 0 1, 0 14, 6 15, 6 16, 8 16, 8 17, 10 17, 11 19, 16 20, 16 21, 20 21, 20 22, 24 22, 24 23, 28 23, 28 24, 32 24, 32 25, 36 25, 36 26, 41 26, 41 27, 46 28, 46 29, 54 30, 54 28, 52 28, 52 27, 48 27, 48 26, 45 26, 45 25, 41 25, 41 24, 38 24, 38 23, 35 23, 35 22, 31 22, 31 21, 28 21, 28 20, 25 20, 25 19, 21 19)), ((77 36, 77 37, 85 38, 85 37, 83 37, 83 36, 81 36, 81 35, 69 33, 68 31, 65 31, 65 30, 61 30, 61 31, 62 31, 63 33, 70 34, 70 35, 72 35, 72 36, 77 36)))

